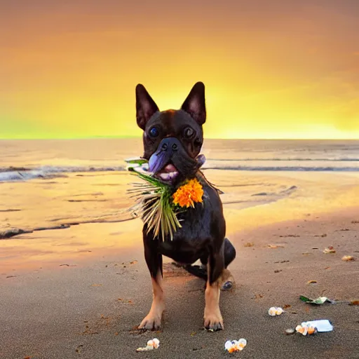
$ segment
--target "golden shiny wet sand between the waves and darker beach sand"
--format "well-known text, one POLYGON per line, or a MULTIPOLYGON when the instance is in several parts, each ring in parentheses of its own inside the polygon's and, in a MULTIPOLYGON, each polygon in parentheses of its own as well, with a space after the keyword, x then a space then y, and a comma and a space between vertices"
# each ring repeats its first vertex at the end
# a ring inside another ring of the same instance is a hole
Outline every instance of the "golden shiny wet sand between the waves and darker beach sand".
MULTIPOLYGON (((358 177, 344 174, 234 172, 206 170, 224 191, 227 235, 258 225, 302 218, 356 205, 358 177)), ((55 182, 1 184, 1 228, 25 231, 69 224, 0 240, 0 269, 26 269, 81 262, 142 246, 142 223, 126 211, 126 172, 70 174, 55 182), (10 209, 8 211, 7 209, 10 209), (41 228, 42 227, 42 228, 41 228)))

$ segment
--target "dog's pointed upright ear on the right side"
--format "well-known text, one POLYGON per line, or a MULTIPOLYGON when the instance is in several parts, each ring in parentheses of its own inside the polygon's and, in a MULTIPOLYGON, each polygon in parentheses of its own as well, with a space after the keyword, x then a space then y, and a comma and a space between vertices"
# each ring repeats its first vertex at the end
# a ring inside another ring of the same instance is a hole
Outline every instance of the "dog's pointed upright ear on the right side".
POLYGON ((184 100, 181 109, 189 113, 198 123, 205 123, 205 86, 203 82, 197 82, 184 100))

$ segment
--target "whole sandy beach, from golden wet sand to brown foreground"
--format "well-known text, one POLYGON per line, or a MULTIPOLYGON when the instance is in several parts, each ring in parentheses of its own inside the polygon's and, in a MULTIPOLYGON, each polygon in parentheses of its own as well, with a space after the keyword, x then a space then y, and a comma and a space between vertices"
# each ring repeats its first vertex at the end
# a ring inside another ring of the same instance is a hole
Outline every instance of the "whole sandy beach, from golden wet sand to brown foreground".
POLYGON ((2 183, 2 231, 72 225, 0 240, 0 358, 225 358, 225 341, 239 338, 248 345, 236 358, 359 358, 359 306, 348 305, 359 299, 358 176, 205 174, 225 192, 237 250, 236 285, 222 292, 224 330, 215 333, 202 329, 203 281, 169 259, 163 330, 136 330, 151 305, 151 281, 142 223, 118 210, 130 205, 128 174, 2 183), (324 254, 330 245, 337 252, 324 254), (311 306, 301 294, 339 303, 311 306), (286 312, 271 318, 271 306, 286 312), (333 332, 284 334, 314 319, 331 320, 333 332), (136 353, 153 337, 157 350, 136 353))

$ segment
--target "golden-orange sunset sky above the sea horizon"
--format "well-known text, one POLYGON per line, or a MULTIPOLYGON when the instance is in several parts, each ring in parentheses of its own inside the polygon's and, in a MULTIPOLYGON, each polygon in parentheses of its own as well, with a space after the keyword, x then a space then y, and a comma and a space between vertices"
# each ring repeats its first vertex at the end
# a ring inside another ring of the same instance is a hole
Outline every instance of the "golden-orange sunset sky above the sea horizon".
POLYGON ((0 4, 0 138, 140 135, 206 86, 206 137, 358 138, 358 0, 0 4))

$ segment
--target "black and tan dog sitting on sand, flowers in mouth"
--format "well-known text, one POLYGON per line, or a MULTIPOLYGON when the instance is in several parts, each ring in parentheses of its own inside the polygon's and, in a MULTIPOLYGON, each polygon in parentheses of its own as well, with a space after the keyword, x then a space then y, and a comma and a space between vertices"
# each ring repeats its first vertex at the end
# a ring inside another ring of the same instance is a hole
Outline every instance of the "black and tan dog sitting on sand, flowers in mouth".
POLYGON ((221 286, 231 287, 232 276, 227 266, 236 257, 236 250, 225 238, 226 222, 222 202, 217 190, 199 170, 196 157, 203 144, 203 123, 206 120, 205 86, 196 83, 181 109, 160 111, 142 84, 136 86, 137 126, 143 130, 143 158, 161 154, 154 176, 170 184, 174 191, 185 179, 197 178, 203 186, 203 203, 196 203, 179 213, 180 227, 170 238, 155 237, 147 233, 144 224, 144 258, 151 273, 153 302, 147 316, 139 325, 143 330, 158 330, 165 309, 161 285, 162 256, 183 264, 194 275, 206 280, 204 327, 208 330, 224 329, 219 309, 221 286), (198 259, 202 266, 192 266, 198 259), (203 269, 206 266, 206 269, 203 269))

